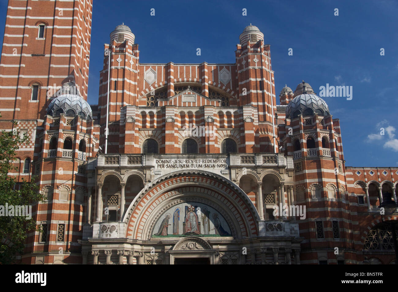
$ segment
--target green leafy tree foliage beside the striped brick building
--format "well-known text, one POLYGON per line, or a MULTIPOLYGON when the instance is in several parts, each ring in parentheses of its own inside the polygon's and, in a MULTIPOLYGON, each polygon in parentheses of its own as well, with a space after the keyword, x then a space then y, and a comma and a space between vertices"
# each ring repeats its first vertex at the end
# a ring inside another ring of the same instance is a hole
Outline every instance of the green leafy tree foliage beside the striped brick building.
POLYGON ((18 145, 28 140, 27 136, 20 137, 18 131, 2 130, 0 133, 0 264, 16 263, 16 255, 23 253, 27 232, 39 230, 33 217, 29 219, 25 216, 5 216, 4 212, 6 203, 12 207, 32 206, 44 199, 38 191, 35 177, 29 181, 24 180, 18 189, 16 178, 8 175, 9 172, 18 171, 12 166, 12 162, 15 160, 18 145))

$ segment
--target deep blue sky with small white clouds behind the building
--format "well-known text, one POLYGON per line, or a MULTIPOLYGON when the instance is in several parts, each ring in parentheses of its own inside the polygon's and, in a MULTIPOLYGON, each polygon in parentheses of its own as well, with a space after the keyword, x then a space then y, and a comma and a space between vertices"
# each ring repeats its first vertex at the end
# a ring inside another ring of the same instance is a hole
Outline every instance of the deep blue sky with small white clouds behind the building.
MULTIPOLYGON (((0 2, 2 25, 6 2, 0 2)), ((285 84, 294 91, 302 79, 317 93, 327 83, 352 86, 351 100, 324 97, 333 117, 340 119, 346 166, 396 167, 397 15, 396 0, 94 0, 88 101, 98 103, 103 44, 122 22, 136 36, 142 63, 234 63, 239 35, 252 23, 271 44, 277 95, 285 84), (155 16, 150 16, 151 8, 155 16), (247 16, 242 16, 243 8, 247 16), (334 16, 335 8, 339 16, 334 16)))

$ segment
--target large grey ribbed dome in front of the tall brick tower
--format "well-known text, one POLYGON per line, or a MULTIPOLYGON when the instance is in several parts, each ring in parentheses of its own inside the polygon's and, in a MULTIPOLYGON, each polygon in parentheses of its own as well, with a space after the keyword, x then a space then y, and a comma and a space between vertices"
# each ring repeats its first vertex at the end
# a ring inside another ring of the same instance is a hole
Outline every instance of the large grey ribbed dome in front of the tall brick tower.
POLYGON ((76 94, 62 94, 51 101, 47 114, 51 116, 65 113, 68 116, 78 114, 82 119, 91 119, 93 116, 90 105, 82 97, 76 94))

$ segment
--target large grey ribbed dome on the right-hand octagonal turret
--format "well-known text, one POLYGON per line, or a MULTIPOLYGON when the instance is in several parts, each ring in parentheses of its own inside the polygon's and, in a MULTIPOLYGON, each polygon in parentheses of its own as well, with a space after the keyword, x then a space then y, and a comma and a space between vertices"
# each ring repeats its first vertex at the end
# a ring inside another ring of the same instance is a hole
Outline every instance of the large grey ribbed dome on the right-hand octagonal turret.
POLYGON ((286 117, 294 119, 298 115, 312 116, 316 113, 320 116, 330 115, 329 107, 319 96, 312 93, 300 94, 293 98, 287 105, 286 117))

